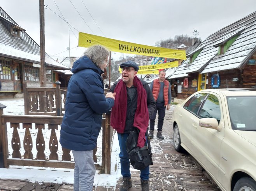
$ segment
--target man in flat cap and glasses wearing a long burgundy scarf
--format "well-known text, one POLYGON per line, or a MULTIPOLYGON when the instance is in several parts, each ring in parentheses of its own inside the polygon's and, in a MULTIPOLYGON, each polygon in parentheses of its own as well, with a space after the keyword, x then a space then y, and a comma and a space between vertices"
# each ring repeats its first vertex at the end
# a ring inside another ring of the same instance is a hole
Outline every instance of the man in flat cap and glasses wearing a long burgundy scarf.
MULTIPOLYGON (((123 185, 121 191, 132 187, 130 160, 126 151, 126 139, 130 132, 140 130, 138 145, 142 148, 145 144, 145 133, 148 128, 149 118, 154 113, 156 104, 149 85, 136 75, 139 66, 129 60, 120 65, 122 79, 110 88, 116 93, 114 107, 111 111, 110 125, 116 129, 120 146, 121 174, 123 185)), ((142 191, 149 191, 149 166, 140 170, 142 191)))

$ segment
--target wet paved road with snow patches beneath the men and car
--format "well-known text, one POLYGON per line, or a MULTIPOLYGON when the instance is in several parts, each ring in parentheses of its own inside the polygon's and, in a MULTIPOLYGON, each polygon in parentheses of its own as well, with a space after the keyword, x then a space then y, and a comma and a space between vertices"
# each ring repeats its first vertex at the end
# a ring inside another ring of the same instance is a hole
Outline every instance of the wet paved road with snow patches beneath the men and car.
MULTIPOLYGON (((152 191, 220 191, 209 175, 198 165, 188 153, 178 153, 173 146, 172 107, 166 112, 163 126, 164 140, 151 139, 153 162, 150 168, 150 190, 152 191)), ((131 167, 133 187, 129 191, 140 191, 140 172, 131 167)), ((98 186, 96 191, 118 191, 121 178, 116 188, 98 186)), ((0 180, 2 190, 73 190, 72 185, 45 183, 29 183, 23 181, 0 180)), ((93 189, 95 190, 95 188, 93 189)))

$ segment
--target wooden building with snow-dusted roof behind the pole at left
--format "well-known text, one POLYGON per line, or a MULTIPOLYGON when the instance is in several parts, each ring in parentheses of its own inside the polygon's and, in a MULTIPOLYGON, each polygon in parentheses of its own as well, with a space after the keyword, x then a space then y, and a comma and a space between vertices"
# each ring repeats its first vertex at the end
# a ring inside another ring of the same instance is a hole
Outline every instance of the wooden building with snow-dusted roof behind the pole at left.
MULTIPOLYGON (((46 53, 47 87, 60 80, 57 69, 69 67, 46 53)), ((23 84, 40 87, 40 46, 0 7, 0 97, 23 92, 23 84)))

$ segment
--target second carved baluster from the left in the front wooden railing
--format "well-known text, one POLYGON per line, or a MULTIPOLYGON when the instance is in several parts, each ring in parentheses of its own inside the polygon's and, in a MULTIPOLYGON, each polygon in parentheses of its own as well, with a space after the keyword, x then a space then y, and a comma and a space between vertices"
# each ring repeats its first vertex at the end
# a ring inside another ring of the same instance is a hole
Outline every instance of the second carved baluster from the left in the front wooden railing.
POLYGON ((24 140, 23 140, 23 146, 25 150, 24 158, 33 159, 33 153, 32 153, 33 141, 29 131, 29 129, 32 129, 32 124, 23 123, 23 129, 26 129, 24 140))

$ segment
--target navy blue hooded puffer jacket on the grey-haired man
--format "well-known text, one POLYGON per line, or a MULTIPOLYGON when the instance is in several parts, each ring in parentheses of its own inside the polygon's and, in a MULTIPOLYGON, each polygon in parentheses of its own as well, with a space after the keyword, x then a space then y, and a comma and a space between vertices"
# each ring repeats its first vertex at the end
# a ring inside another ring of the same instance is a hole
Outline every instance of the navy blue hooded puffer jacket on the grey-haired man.
POLYGON ((102 114, 114 105, 105 98, 99 69, 88 57, 77 60, 68 83, 65 115, 61 124, 60 144, 75 150, 93 150, 102 125, 102 114))

